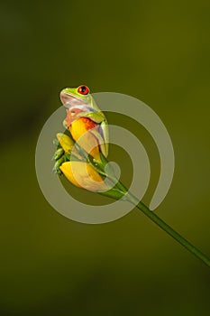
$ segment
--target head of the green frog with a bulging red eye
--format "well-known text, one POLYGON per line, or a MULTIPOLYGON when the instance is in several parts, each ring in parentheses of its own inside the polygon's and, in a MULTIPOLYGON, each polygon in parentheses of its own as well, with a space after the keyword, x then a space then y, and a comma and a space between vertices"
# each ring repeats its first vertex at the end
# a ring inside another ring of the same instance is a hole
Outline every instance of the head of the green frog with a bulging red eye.
POLYGON ((64 88, 60 92, 60 99, 65 107, 84 105, 94 107, 95 103, 89 88, 85 85, 81 85, 78 88, 64 88))

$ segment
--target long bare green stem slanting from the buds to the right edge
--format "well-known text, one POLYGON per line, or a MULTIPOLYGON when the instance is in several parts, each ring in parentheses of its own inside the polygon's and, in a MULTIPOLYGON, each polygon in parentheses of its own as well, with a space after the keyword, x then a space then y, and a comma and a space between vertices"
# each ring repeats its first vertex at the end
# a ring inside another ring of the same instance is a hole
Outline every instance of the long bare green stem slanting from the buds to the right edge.
POLYGON ((196 248, 196 246, 193 246, 192 244, 190 244, 187 239, 185 239, 184 237, 182 237, 181 235, 178 234, 178 232, 176 230, 174 230, 173 228, 169 227, 169 225, 167 223, 165 223, 161 218, 159 218, 154 212, 151 211, 151 209, 149 209, 145 204, 143 204, 142 202, 139 202, 133 195, 131 192, 128 192, 127 194, 127 200, 129 200, 130 202, 132 202, 132 204, 134 204, 138 209, 142 210, 142 212, 148 217, 151 218, 151 220, 157 224, 160 228, 162 228, 163 230, 165 230, 165 232, 167 232, 171 237, 173 237, 175 240, 178 241, 179 244, 181 244, 182 246, 184 246, 185 248, 187 248, 187 250, 189 252, 191 252, 191 254, 193 254, 194 256, 196 256, 198 259, 200 259, 201 261, 203 261, 203 263, 205 263, 205 265, 210 267, 210 259, 205 256, 199 249, 196 248))

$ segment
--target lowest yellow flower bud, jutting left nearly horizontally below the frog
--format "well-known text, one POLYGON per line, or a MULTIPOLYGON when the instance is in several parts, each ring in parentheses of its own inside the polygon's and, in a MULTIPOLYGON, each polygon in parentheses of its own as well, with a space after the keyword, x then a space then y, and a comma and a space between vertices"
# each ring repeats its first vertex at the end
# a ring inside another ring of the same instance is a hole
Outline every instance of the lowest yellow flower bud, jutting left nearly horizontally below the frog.
POLYGON ((59 167, 60 171, 67 177, 68 181, 89 191, 107 191, 102 177, 89 164, 83 162, 66 162, 59 167))

